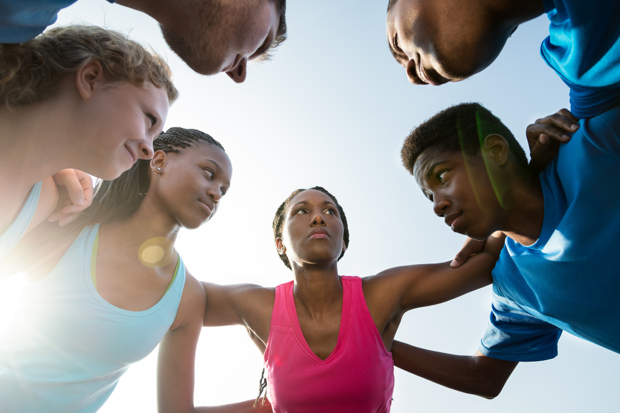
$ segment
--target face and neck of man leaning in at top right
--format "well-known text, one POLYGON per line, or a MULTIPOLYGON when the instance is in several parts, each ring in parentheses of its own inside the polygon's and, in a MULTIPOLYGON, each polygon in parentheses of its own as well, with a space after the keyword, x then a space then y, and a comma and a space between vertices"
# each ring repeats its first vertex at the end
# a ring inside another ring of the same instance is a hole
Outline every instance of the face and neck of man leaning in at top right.
POLYGON ((458 82, 493 63, 518 25, 543 13, 542 0, 398 0, 387 42, 412 84, 458 82))

